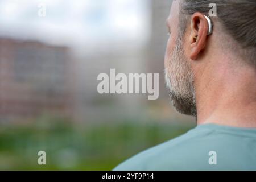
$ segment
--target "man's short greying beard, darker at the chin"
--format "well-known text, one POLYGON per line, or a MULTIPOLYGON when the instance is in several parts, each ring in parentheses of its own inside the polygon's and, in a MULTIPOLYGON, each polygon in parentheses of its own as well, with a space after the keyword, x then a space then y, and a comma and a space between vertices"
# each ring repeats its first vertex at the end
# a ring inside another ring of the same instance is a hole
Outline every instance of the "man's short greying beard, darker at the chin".
POLYGON ((170 64, 165 69, 166 85, 175 109, 181 114, 196 117, 194 76, 181 45, 181 38, 178 38, 170 64))

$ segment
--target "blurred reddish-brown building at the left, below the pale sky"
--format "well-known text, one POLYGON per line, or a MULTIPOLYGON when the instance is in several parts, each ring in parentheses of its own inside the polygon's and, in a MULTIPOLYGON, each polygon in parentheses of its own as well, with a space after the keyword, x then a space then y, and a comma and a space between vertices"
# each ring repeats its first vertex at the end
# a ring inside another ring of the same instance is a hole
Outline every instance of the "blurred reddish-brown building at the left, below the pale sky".
POLYGON ((71 68, 67 47, 0 38, 0 121, 69 115, 71 68))

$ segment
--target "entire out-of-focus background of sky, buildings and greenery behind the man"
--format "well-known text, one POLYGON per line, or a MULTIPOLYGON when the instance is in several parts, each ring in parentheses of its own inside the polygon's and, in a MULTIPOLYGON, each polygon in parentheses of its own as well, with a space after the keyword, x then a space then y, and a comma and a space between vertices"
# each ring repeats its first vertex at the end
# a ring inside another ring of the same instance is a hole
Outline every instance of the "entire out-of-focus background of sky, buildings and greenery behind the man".
POLYGON ((194 127, 164 84, 171 3, 0 0, 0 169, 110 170, 194 127), (110 68, 159 73, 158 100, 99 94, 110 68))

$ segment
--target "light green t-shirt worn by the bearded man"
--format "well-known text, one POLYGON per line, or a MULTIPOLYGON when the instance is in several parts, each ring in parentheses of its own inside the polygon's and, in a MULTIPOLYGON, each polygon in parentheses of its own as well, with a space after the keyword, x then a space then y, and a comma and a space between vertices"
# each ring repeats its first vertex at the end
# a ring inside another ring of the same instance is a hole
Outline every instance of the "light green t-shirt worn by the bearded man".
POLYGON ((256 128, 199 125, 114 170, 256 170, 256 128))

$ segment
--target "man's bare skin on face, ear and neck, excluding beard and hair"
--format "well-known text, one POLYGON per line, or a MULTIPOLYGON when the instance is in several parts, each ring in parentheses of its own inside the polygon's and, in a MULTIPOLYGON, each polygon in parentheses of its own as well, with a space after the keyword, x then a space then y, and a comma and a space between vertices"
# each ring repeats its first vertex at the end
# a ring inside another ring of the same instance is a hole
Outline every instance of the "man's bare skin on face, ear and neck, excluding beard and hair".
MULTIPOLYGON (((165 68, 170 64, 179 31, 179 3, 173 1, 167 19, 171 34, 165 68)), ((207 35, 208 23, 204 15, 193 14, 183 40, 185 61, 191 65, 194 75, 197 125, 256 127, 256 68, 225 45, 230 42, 239 46, 223 31, 217 18, 212 20, 213 34, 207 35)))

